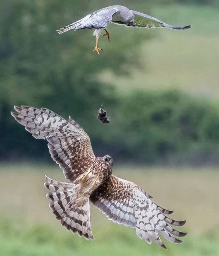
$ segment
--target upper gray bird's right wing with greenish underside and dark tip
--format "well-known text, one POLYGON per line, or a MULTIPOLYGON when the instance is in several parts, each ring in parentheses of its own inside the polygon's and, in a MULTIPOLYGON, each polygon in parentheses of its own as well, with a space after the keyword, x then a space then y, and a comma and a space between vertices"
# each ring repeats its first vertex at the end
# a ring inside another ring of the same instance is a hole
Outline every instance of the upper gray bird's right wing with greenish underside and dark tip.
POLYGON ((149 16, 144 13, 136 12, 130 10, 134 14, 134 22, 125 24, 125 26, 129 27, 140 27, 140 28, 159 28, 159 27, 168 27, 171 29, 187 29, 190 28, 191 25, 184 26, 184 27, 173 27, 170 26, 163 21, 159 21, 157 18, 149 16))

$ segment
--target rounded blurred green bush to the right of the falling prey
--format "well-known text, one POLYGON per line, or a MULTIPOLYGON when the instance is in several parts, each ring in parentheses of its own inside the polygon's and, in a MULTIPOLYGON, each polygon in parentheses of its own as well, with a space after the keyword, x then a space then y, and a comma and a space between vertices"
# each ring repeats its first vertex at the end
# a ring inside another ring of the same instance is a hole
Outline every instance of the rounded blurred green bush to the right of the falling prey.
POLYGON ((118 130, 116 140, 127 157, 148 163, 218 162, 219 112, 207 100, 177 91, 139 91, 120 102, 116 124, 123 133, 118 130))

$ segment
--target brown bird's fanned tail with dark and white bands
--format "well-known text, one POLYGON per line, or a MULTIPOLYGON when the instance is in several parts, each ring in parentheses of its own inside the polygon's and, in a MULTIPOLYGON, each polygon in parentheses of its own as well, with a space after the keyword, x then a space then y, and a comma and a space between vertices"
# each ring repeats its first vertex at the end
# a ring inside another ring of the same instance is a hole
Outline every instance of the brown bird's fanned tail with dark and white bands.
POLYGON ((55 181, 47 176, 45 179, 44 186, 52 191, 46 196, 51 200, 49 207, 56 219, 61 220, 62 226, 73 233, 77 232, 79 236, 83 235, 87 240, 94 240, 90 224, 89 200, 74 206, 75 184, 55 181))

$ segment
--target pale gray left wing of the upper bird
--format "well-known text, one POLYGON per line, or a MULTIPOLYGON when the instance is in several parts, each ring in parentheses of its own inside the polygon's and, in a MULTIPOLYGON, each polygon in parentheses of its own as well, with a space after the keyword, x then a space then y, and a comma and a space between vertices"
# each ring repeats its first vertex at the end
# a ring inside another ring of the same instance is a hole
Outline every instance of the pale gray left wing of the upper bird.
POLYGON ((76 21, 72 24, 69 24, 63 28, 56 30, 59 34, 62 34, 70 29, 101 29, 105 28, 108 23, 112 22, 112 16, 118 11, 116 7, 106 7, 100 10, 97 10, 91 14, 88 14, 86 17, 82 18, 79 21, 76 21))

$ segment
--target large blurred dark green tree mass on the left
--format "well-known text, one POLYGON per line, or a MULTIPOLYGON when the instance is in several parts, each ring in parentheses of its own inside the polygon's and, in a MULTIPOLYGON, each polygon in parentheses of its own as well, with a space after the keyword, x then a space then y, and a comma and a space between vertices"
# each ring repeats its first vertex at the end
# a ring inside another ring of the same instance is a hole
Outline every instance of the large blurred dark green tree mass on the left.
POLYGON ((101 38, 101 47, 107 50, 98 56, 92 52, 93 30, 63 35, 55 30, 112 1, 0 2, 0 158, 20 156, 22 151, 38 156, 45 152, 40 149, 42 142, 29 140, 10 117, 15 104, 45 106, 65 117, 72 114, 82 126, 90 127, 92 137, 96 110, 116 98, 112 87, 95 81, 95 74, 104 68, 127 73, 138 63, 134 45, 145 40, 145 34, 132 29, 126 34, 128 28, 112 26, 111 42, 101 38))

